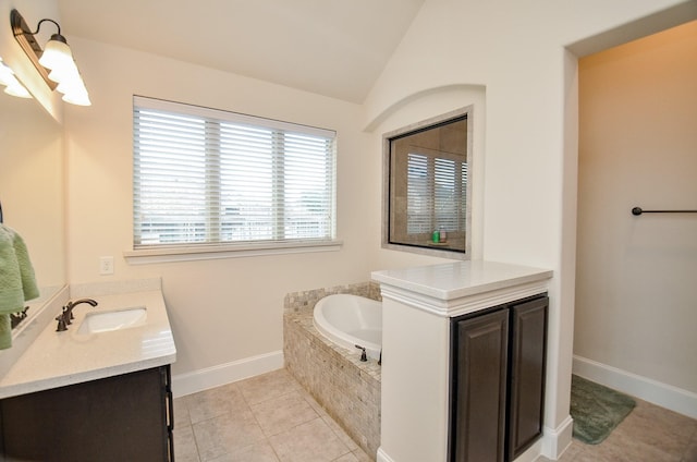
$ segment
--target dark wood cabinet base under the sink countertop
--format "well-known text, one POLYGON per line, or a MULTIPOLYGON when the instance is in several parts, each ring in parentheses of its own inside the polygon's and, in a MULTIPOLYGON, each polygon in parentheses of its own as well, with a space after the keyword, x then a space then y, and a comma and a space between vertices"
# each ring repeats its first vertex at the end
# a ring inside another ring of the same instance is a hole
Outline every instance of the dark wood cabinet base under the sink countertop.
POLYGON ((7 460, 173 461, 172 423, 169 365, 0 401, 7 460))

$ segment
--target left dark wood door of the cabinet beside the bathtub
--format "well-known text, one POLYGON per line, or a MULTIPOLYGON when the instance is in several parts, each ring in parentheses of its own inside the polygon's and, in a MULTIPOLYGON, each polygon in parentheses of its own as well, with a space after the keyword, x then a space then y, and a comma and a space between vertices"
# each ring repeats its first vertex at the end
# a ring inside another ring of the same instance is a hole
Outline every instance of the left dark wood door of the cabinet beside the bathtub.
POLYGON ((509 311, 455 321, 451 461, 503 461, 509 311))

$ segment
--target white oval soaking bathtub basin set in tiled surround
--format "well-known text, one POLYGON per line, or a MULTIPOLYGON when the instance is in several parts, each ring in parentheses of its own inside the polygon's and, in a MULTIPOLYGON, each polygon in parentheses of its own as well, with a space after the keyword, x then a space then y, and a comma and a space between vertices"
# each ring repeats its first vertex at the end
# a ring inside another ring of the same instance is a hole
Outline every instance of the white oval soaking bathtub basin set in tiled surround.
POLYGON ((313 314, 315 328, 331 342, 378 360, 382 349, 382 303, 352 294, 321 299, 313 314))

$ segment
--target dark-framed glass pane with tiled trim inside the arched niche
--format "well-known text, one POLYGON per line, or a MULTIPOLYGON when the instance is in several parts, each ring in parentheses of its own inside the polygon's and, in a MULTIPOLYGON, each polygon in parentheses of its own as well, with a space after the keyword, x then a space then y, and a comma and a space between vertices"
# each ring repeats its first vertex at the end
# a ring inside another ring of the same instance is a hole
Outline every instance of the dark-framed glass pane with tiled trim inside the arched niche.
POLYGON ((472 107, 383 136, 382 246, 469 258, 472 107))

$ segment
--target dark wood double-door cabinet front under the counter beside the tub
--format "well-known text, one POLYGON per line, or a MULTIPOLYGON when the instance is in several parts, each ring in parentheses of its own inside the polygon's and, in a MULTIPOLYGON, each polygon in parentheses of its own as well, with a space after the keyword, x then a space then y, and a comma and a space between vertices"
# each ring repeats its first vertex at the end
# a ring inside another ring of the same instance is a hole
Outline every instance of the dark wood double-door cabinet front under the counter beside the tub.
POLYGON ((451 462, 513 461, 542 430, 545 295, 451 321, 451 462))

